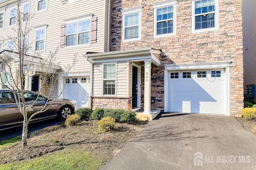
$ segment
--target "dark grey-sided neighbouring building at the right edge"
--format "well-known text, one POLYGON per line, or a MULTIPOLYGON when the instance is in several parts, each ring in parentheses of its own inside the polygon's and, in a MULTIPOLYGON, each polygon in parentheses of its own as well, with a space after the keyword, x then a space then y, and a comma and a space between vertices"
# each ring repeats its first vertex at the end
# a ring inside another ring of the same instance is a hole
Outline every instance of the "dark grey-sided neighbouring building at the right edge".
POLYGON ((256 1, 242 1, 244 46, 244 96, 246 101, 256 103, 256 1))

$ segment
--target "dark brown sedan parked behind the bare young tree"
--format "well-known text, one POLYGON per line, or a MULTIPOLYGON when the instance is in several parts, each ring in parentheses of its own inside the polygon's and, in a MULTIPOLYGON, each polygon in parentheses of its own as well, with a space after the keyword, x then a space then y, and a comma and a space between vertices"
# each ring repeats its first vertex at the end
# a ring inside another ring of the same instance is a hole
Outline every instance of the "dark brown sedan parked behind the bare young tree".
MULTIPOLYGON (((32 105, 36 100, 38 93, 32 91, 24 91, 24 99, 26 106, 32 105)), ((21 97, 17 96, 20 100, 21 97)), ((42 109, 46 104, 47 97, 39 95, 36 104, 28 108, 28 117, 36 111, 42 109)), ((57 99, 52 104, 52 99, 49 99, 47 106, 50 107, 31 119, 32 122, 42 121, 58 117, 62 120, 69 117, 76 110, 76 101, 68 99, 57 99)), ((20 113, 14 94, 8 89, 0 89, 0 131, 12 127, 21 126, 23 123, 23 115, 20 113)))

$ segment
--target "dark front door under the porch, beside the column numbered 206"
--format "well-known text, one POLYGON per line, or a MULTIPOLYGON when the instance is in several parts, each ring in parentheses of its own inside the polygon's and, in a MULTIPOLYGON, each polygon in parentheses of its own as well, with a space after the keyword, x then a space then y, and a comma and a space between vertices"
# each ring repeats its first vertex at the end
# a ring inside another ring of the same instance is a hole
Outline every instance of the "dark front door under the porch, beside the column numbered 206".
POLYGON ((132 66, 132 108, 137 107, 138 102, 138 68, 132 66))

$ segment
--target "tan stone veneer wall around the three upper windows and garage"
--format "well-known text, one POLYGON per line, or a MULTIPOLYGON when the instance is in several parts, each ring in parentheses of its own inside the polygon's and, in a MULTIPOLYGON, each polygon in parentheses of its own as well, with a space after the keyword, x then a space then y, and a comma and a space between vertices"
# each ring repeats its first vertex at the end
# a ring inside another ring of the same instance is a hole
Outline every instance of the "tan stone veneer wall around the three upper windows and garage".
POLYGON ((112 4, 112 51, 142 47, 162 49, 162 66, 152 67, 151 96, 156 96, 157 99, 156 104, 152 104, 152 109, 164 107, 164 64, 226 61, 232 62, 230 64, 230 115, 240 115, 244 99, 242 0, 219 0, 219 30, 200 33, 191 32, 191 0, 177 0, 177 34, 154 38, 152 4, 160 1, 114 0, 112 4), (121 10, 138 6, 143 7, 142 38, 139 41, 122 42, 121 10))

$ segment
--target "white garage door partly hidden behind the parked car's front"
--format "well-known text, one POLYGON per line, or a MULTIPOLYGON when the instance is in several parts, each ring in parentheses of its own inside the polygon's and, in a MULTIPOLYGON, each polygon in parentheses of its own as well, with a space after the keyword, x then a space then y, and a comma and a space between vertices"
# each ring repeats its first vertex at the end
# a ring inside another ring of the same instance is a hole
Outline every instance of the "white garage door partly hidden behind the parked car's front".
POLYGON ((88 107, 89 103, 89 78, 72 77, 66 79, 63 98, 76 100, 76 107, 88 107))

